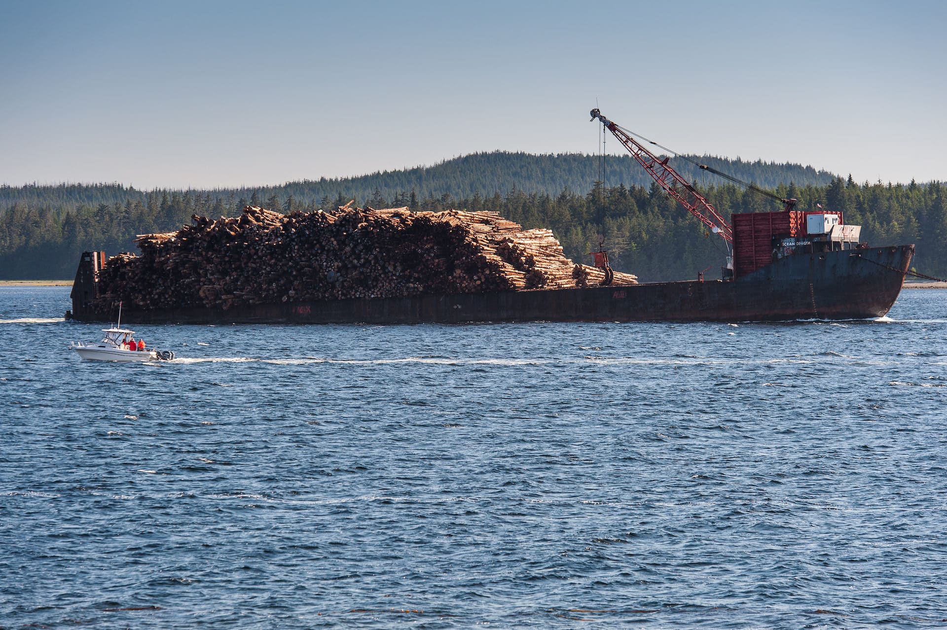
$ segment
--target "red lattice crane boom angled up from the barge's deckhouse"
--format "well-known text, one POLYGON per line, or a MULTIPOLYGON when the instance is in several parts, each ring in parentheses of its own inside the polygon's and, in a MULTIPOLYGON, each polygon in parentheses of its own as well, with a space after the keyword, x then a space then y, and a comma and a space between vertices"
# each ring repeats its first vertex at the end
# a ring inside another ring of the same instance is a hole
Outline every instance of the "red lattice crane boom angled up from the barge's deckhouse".
POLYGON ((688 209, 688 212, 697 219, 700 219, 704 225, 710 228, 714 233, 724 237, 727 243, 733 243, 733 228, 717 212, 710 201, 706 200, 704 195, 688 183, 680 173, 668 166, 668 158, 658 159, 650 150, 645 149, 639 142, 618 127, 614 122, 601 115, 598 109, 592 110, 592 120, 598 118, 605 129, 611 131, 625 149, 632 154, 635 161, 644 166, 654 181, 657 182, 668 195, 677 200, 681 205, 688 209))

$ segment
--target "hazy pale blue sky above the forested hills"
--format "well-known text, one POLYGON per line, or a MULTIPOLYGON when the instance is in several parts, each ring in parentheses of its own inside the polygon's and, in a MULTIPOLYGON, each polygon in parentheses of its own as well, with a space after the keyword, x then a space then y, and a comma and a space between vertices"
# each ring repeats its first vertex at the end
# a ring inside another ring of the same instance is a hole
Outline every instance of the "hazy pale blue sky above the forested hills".
POLYGON ((12 185, 280 184, 474 151, 589 153, 597 99, 678 152, 859 182, 947 180, 944 2, 0 0, 0 11, 0 182, 12 185))

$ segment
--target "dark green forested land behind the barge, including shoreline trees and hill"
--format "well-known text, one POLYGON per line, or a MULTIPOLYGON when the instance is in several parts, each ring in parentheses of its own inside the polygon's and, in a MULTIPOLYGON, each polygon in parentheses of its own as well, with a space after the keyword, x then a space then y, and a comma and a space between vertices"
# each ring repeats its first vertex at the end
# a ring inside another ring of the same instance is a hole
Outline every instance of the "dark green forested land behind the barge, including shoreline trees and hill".
MULTIPOLYGON (((476 160, 491 156, 523 157, 522 154, 491 153, 468 158, 475 164, 476 160)), ((707 234, 697 219, 671 201, 655 184, 620 182, 614 185, 593 183, 584 188, 565 184, 553 187, 552 180, 536 166, 543 164, 543 160, 552 159, 552 164, 564 173, 569 171, 569 165, 575 165, 579 170, 581 165, 594 167, 596 158, 526 158, 542 159, 535 163, 521 160, 518 164, 524 171, 509 175, 509 180, 484 184, 483 190, 474 188, 469 193, 451 190, 467 190, 465 186, 474 186, 471 182, 487 180, 476 179, 482 173, 467 173, 473 179, 465 180, 459 168, 454 171, 455 188, 434 188, 424 178, 408 178, 403 180, 406 184, 403 187, 395 186, 395 182, 401 181, 398 178, 406 177, 405 173, 425 170, 412 169, 369 176, 384 178, 390 175, 393 187, 383 190, 378 186, 364 195, 341 188, 329 193, 329 187, 323 187, 318 190, 325 194, 317 197, 307 192, 316 188, 305 187, 317 183, 286 184, 257 190, 155 190, 148 193, 120 185, 4 188, 0 191, 0 278, 71 278, 83 250, 105 250, 108 254, 134 251, 134 235, 177 229, 189 222, 193 214, 211 218, 235 216, 246 204, 282 212, 318 208, 331 211, 351 199, 360 205, 376 208, 407 205, 415 210, 492 210, 522 223, 526 228, 551 228, 562 241, 565 253, 585 263, 591 262, 587 254, 597 250, 603 238, 613 266, 619 271, 636 273, 643 281, 693 278, 698 271, 706 269, 709 269, 707 277, 719 277, 724 260, 723 240, 707 234), (555 162, 557 159, 561 159, 563 164, 555 162), (535 168, 525 166, 529 164, 535 168), (525 171, 532 174, 527 176, 525 171), (532 184, 513 184, 525 182, 532 184), (420 190, 427 192, 422 194, 420 190), (95 201, 97 199, 100 201, 95 201), (109 201, 104 201, 106 199, 109 201)), ((438 167, 451 165, 455 168, 456 164, 445 163, 438 167)), ((733 167, 735 164, 718 163, 715 167, 738 173, 733 167)), ((610 163, 612 166, 630 170, 634 165, 616 158, 610 163)), ((771 166, 774 168, 772 177, 778 177, 777 166, 771 166)), ((767 166, 759 167, 766 170, 767 166)), ((786 172, 802 173, 806 169, 790 166, 786 172)), ((745 172, 738 176, 765 182, 762 171, 756 177, 745 172)), ((813 176, 821 177, 814 171, 813 176)), ((376 184, 382 182, 381 179, 373 181, 376 184)), ((566 177, 565 181, 572 180, 566 177)), ((743 191, 732 184, 702 185, 700 175, 693 181, 724 216, 731 212, 781 209, 777 203, 758 193, 743 191)), ((916 268, 924 273, 947 275, 947 247, 944 246, 947 238, 947 184, 857 184, 850 177, 847 181, 829 176, 826 183, 819 183, 816 179, 806 185, 767 187, 781 197, 798 199, 799 209, 814 210, 819 203, 827 209, 842 210, 847 223, 864 225, 862 237, 870 243, 917 243, 916 268)))

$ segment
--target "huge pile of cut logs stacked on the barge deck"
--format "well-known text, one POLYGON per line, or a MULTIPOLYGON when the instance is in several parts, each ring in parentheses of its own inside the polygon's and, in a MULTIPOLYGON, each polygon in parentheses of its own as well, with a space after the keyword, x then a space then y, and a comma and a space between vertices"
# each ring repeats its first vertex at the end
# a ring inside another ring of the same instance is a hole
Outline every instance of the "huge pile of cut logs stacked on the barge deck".
MULTIPOLYGON (((545 229, 493 212, 352 208, 239 218, 194 215, 177 232, 139 235, 140 255, 99 272, 97 309, 169 308, 597 286, 545 229)), ((615 273, 613 285, 636 283, 615 273)))

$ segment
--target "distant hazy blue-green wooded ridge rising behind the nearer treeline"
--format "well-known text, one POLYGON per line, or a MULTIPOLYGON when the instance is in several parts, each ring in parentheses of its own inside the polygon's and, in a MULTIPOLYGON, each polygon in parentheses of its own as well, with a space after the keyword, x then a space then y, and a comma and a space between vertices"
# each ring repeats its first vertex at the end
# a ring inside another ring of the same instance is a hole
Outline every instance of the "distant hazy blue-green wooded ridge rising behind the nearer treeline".
MULTIPOLYGON (((831 181, 831 173, 816 171, 812 166, 776 164, 773 162, 744 162, 713 156, 689 156, 708 166, 763 187, 778 184, 821 185, 831 181)), ((688 180, 696 184, 712 184, 712 176, 706 175, 686 160, 671 159, 670 165, 677 168, 688 180)), ((137 190, 121 184, 59 184, 59 185, 0 185, 0 209, 16 202, 31 206, 58 207, 63 205, 98 205, 99 203, 125 203, 140 201, 147 204, 150 197, 159 200, 175 193, 192 198, 209 195, 212 201, 222 200, 226 207, 240 205, 239 201, 250 201, 256 195, 259 200, 276 196, 280 205, 290 198, 294 202, 309 204, 325 198, 334 199, 340 193, 348 199, 365 201, 377 192, 386 199, 399 193, 413 192, 418 199, 451 195, 455 199, 472 197, 475 193, 492 195, 506 194, 510 190, 527 193, 539 192, 557 195, 563 188, 591 190, 597 181, 606 185, 625 184, 651 185, 651 178, 631 156, 605 156, 577 153, 563 155, 532 155, 529 153, 474 153, 441 162, 435 166, 418 166, 403 170, 384 171, 344 179, 306 180, 277 186, 247 188, 216 188, 212 190, 173 190, 159 188, 152 191, 137 190), (604 174, 602 174, 604 173, 604 174)))

